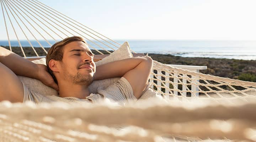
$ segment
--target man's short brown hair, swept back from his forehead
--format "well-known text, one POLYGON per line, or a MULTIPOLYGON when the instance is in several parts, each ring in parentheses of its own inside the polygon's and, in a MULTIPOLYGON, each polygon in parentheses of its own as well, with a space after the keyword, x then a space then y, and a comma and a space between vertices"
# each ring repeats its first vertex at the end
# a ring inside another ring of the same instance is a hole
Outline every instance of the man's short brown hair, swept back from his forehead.
POLYGON ((52 60, 52 59, 56 60, 56 61, 62 61, 62 59, 63 59, 63 46, 70 43, 70 42, 74 42, 74 41, 81 41, 81 42, 84 42, 85 44, 87 44, 86 41, 83 38, 78 37, 78 36, 73 36, 73 37, 65 38, 65 39, 63 39, 59 42, 56 42, 48 50, 48 53, 46 55, 46 65, 47 65, 47 68, 48 68, 48 71, 49 71, 50 75, 52 75, 52 77, 53 77, 53 79, 56 83, 58 83, 58 82, 57 82, 56 77, 53 74, 53 71, 49 68, 49 61, 52 60))

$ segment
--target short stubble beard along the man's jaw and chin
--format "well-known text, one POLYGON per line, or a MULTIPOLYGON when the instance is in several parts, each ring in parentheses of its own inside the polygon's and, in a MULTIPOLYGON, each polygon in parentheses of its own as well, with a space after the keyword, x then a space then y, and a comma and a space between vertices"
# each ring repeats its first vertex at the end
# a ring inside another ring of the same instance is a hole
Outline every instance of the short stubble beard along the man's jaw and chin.
POLYGON ((93 81, 94 81, 94 75, 91 75, 91 73, 88 73, 87 75, 81 74, 80 72, 77 72, 76 75, 72 75, 69 73, 67 70, 67 66, 63 63, 62 65, 63 68, 63 75, 64 75, 64 80, 67 81, 72 81, 74 84, 80 84, 80 85, 85 85, 89 86, 93 81))

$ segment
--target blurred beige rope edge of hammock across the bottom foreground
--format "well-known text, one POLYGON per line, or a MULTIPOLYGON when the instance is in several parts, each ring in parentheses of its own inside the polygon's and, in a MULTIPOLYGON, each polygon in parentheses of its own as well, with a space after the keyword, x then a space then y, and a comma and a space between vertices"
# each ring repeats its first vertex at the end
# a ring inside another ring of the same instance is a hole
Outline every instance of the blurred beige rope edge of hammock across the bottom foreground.
MULTIPOLYGON (((126 107, 106 104, 66 107, 3 102, 0 133, 30 131, 29 140, 44 136, 57 141, 63 138, 66 141, 156 141, 160 136, 175 135, 185 140, 256 141, 256 103, 194 104, 196 107, 190 109, 185 105, 193 103, 148 104, 151 105, 146 107, 144 102, 126 107)), ((21 134, 24 136, 25 132, 21 134)))

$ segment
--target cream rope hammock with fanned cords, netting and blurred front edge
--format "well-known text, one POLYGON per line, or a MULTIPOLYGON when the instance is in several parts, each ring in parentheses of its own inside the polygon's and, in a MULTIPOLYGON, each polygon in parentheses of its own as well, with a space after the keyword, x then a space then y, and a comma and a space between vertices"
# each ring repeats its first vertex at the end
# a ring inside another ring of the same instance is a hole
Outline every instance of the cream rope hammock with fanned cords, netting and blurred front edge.
MULTIPOLYGON (((47 54, 42 40, 73 35, 111 54, 121 44, 38 0, 0 0, 9 49, 14 34, 47 54), (21 35, 18 35, 21 31, 21 35)), ((135 53, 134 51, 132 51, 135 53)), ((206 75, 154 61, 150 83, 164 99, 126 107, 0 103, 0 141, 256 141, 256 83, 206 75), (106 119, 108 118, 108 119, 106 119), (113 129, 112 125, 125 125, 113 129)))

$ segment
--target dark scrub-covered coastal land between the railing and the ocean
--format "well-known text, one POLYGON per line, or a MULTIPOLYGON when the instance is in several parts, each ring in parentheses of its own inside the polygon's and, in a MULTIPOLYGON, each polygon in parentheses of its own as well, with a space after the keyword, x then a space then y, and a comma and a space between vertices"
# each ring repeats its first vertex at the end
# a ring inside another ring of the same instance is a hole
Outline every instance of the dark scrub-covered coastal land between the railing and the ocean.
MULTIPOLYGON (((2 46, 6 49, 9 47, 2 46)), ((23 47, 27 56, 36 56, 31 47, 23 47)), ((47 51, 49 48, 45 48, 47 51)), ((45 56, 46 53, 42 48, 35 48, 39 56, 45 56)), ((20 47, 12 47, 12 51, 23 57, 20 47)), ((100 50, 103 54, 108 54, 104 50, 100 50)), ((97 51, 92 50, 94 54, 97 51)), ((159 61, 163 64, 175 65, 194 65, 207 66, 207 70, 200 72, 219 76, 228 77, 243 81, 256 82, 256 60, 237 60, 237 59, 218 59, 218 58, 202 58, 202 57, 181 57, 170 54, 149 54, 153 60, 159 61)))

